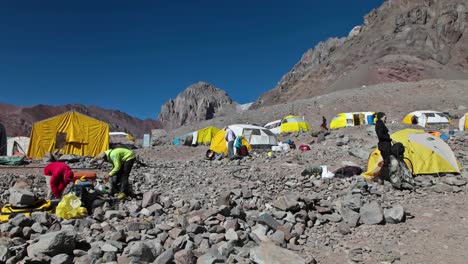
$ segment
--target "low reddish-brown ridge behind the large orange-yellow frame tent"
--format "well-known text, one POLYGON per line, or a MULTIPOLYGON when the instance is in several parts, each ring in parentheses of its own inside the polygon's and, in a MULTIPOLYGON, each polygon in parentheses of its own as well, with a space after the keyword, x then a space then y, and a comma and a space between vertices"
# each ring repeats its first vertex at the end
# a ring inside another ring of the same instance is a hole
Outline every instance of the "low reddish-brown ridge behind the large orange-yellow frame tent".
POLYGON ((161 123, 156 120, 141 120, 118 110, 81 104, 21 107, 0 103, 0 122, 5 125, 8 136, 29 136, 35 122, 71 110, 109 123, 111 131, 123 131, 131 133, 135 137, 142 137, 143 134, 150 133, 151 129, 162 127, 161 123))

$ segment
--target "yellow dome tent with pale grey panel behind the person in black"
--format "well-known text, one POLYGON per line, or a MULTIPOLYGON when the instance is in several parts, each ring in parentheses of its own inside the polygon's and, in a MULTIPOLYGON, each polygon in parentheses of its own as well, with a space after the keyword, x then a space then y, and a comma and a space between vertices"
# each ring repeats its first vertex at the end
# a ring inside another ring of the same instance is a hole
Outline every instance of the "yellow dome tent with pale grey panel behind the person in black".
MULTIPOLYGON (((423 130, 403 129, 391 135, 391 138, 405 146, 405 162, 413 175, 436 173, 460 173, 452 149, 442 139, 423 130)), ((375 149, 367 161, 366 178, 373 178, 382 167, 380 151, 375 149)))

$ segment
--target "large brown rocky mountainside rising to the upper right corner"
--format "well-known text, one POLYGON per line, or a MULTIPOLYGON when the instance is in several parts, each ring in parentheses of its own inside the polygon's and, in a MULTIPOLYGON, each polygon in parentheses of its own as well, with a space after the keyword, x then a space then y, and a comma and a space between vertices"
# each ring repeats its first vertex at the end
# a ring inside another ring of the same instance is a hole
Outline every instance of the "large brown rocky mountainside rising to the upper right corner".
POLYGON ((388 0, 348 37, 308 50, 252 106, 382 82, 468 78, 466 0, 388 0))

